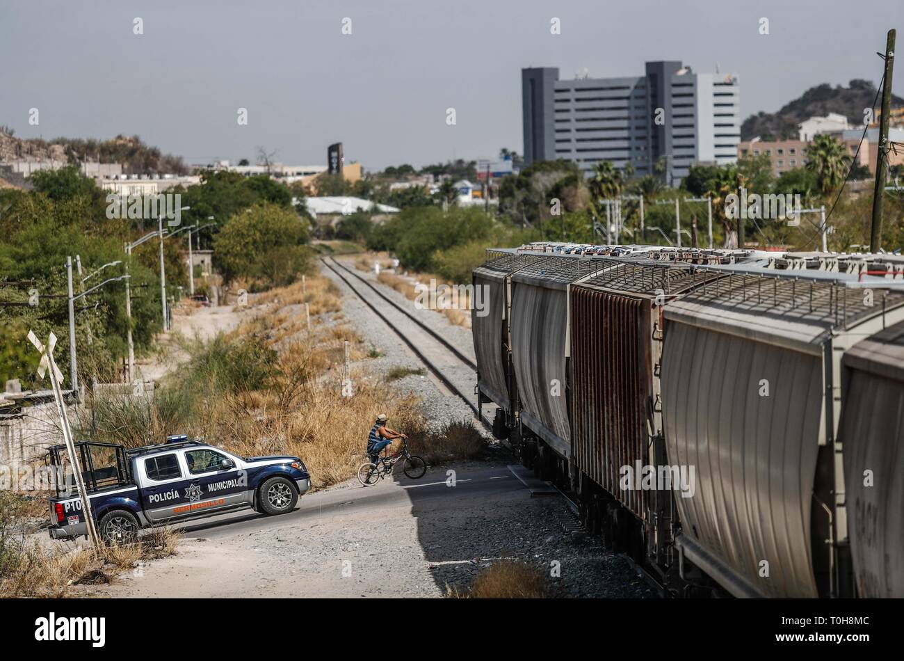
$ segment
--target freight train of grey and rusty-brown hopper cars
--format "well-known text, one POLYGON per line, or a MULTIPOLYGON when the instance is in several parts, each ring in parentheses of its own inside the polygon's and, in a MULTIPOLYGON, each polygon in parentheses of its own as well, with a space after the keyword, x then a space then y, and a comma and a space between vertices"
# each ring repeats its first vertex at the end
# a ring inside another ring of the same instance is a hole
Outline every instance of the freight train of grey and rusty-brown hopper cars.
POLYGON ((531 244, 478 405, 672 596, 904 596, 904 260, 531 244))

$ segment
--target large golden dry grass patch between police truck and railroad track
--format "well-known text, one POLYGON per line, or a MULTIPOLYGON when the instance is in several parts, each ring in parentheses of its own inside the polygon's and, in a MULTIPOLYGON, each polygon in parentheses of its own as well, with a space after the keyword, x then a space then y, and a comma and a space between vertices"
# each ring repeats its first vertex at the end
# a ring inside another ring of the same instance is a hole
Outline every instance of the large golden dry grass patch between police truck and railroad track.
MULTIPOLYGON (((340 307, 338 291, 327 279, 308 279, 307 288, 312 307, 324 311, 340 307)), ((268 300, 278 301, 277 306, 237 331, 277 349, 275 378, 268 388, 207 402, 206 410, 195 419, 203 426, 199 435, 217 439, 224 448, 244 456, 296 455, 310 470, 315 489, 354 476, 364 459, 367 433, 379 413, 387 413, 391 427, 410 436, 412 452, 428 463, 475 457, 483 451, 484 439, 469 423, 428 432, 419 398, 386 387, 386 379, 400 378, 399 373, 378 374, 367 367, 366 359, 378 353, 351 326, 317 323, 311 333, 287 334, 286 328, 297 329, 297 324, 293 326, 297 313, 286 306, 294 304, 298 291, 296 284, 268 292, 268 300), (352 361, 351 397, 344 396, 343 388, 346 341, 352 361)))

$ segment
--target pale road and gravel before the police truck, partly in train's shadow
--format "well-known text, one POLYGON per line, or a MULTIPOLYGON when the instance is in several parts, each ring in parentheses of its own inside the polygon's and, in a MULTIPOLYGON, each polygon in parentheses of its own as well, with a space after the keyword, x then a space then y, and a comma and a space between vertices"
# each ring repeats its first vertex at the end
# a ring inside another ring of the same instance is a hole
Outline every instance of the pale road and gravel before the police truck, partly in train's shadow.
MULTIPOLYGON (((219 515, 185 526, 179 554, 99 590, 134 597, 441 597, 481 562, 534 557, 551 535, 551 499, 508 468, 472 462, 303 496, 287 515, 219 515), (543 502, 545 501, 545 502, 543 502)), ((560 496, 554 496, 558 500, 560 496)), ((559 503, 560 508, 565 505, 559 503)))

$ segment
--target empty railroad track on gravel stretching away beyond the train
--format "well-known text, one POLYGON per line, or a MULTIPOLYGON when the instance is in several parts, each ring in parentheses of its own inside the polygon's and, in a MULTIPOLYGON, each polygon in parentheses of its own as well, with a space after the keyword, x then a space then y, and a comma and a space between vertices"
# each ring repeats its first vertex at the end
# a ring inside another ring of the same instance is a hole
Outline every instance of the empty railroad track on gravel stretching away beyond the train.
POLYGON ((381 309, 373 304, 371 297, 364 296, 362 291, 363 287, 369 288, 372 293, 376 294, 377 297, 380 297, 383 301, 388 303, 392 310, 393 314, 397 313, 401 316, 404 316, 408 321, 417 326, 418 330, 423 333, 423 335, 428 335, 428 338, 432 340, 435 345, 442 347, 443 352, 447 354, 447 357, 452 358, 452 362, 457 362, 459 364, 464 364, 468 369, 474 372, 474 379, 476 382, 476 370, 477 366, 468 356, 463 354, 461 351, 457 349, 455 345, 452 345, 448 340, 439 335, 432 328, 424 324, 417 316, 412 315, 408 310, 404 307, 400 306, 390 297, 387 297, 383 292, 380 291, 379 288, 373 286, 372 282, 369 280, 362 278, 360 275, 355 273, 352 269, 349 269, 344 264, 340 263, 334 257, 322 257, 321 261, 327 269, 332 270, 335 275, 341 279, 345 285, 351 289, 355 296, 357 296, 363 304, 369 307, 372 312, 379 316, 383 323, 386 326, 389 326, 391 331, 399 336, 402 342, 407 345, 410 350, 418 357, 419 361, 424 364, 425 367, 437 377, 439 382, 442 382, 446 388, 457 395, 457 397, 461 398, 466 404, 471 408, 471 411, 474 411, 475 417, 483 424, 485 427, 489 428, 490 424, 488 420, 482 418, 480 416, 480 411, 477 409, 476 402, 474 401, 473 393, 468 393, 460 388, 442 369, 442 367, 437 363, 436 360, 430 358, 427 355, 428 349, 424 346, 419 346, 414 341, 412 341, 410 334, 407 334, 400 330, 399 324, 397 322, 393 322, 389 315, 386 314, 385 309, 381 309), (332 262, 332 263, 330 263, 332 262))

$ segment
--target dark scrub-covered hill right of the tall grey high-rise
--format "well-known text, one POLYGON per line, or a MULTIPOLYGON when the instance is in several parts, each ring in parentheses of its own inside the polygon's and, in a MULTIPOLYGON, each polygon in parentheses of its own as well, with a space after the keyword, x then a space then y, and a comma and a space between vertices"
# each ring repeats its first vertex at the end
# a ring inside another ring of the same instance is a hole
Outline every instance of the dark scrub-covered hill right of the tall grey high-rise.
MULTIPOLYGON (((837 112, 854 126, 863 125, 863 109, 872 108, 876 88, 869 80, 855 79, 848 87, 832 87, 827 82, 806 90, 799 99, 787 103, 777 112, 751 115, 740 125, 740 139, 762 137, 764 140, 796 139, 797 125, 807 118, 837 112)), ((891 95, 891 106, 904 105, 904 99, 891 95)), ((877 104, 878 110, 878 104, 877 104)))

